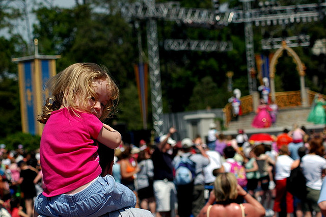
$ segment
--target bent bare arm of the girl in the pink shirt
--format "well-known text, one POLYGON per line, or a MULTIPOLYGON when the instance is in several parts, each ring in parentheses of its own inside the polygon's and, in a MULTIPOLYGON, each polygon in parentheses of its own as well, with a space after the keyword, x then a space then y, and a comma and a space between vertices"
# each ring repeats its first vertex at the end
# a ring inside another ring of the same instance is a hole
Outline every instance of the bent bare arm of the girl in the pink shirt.
POLYGON ((109 148, 115 149, 121 144, 121 134, 111 126, 103 124, 98 134, 97 141, 109 148))

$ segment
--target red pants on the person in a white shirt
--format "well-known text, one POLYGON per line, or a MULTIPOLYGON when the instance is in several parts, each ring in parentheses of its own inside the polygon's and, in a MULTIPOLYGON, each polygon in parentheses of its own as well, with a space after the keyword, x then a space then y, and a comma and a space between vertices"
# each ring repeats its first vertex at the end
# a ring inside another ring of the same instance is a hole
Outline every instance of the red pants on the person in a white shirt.
POLYGON ((281 203, 284 195, 286 194, 286 212, 292 213, 293 208, 293 196, 286 191, 286 179, 276 180, 276 197, 274 201, 274 211, 281 211, 281 203))

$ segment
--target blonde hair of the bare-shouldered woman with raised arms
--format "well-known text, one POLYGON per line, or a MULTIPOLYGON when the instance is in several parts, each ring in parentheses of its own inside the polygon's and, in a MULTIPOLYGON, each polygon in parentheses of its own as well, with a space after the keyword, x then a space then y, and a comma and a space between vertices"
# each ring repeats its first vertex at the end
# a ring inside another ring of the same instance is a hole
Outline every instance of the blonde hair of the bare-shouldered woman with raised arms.
POLYGON ((238 196, 237 180, 233 173, 220 173, 214 181, 216 202, 234 200, 238 196))

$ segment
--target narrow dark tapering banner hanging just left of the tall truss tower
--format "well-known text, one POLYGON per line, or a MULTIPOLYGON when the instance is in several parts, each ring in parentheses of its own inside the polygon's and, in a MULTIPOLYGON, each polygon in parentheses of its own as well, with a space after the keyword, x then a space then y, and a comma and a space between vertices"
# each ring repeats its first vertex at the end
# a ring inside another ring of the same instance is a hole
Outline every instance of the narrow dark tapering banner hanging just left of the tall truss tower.
POLYGON ((148 103, 148 66, 146 63, 134 65, 137 81, 139 103, 143 118, 143 127, 147 129, 147 103, 148 103))

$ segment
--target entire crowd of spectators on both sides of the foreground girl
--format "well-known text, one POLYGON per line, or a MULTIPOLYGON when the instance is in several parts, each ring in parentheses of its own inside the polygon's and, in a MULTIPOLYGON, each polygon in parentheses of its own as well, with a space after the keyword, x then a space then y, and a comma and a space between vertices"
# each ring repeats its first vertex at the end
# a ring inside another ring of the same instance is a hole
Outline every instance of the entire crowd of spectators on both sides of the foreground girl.
MULTIPOLYGON (((249 141, 242 129, 231 137, 216 131, 210 146, 199 136, 175 141, 176 131, 171 127, 156 144, 122 142, 115 149, 111 174, 134 193, 136 208, 154 216, 188 217, 223 212, 240 216, 242 211, 250 216, 321 216, 326 211, 326 195, 320 194, 326 131, 307 132, 294 124, 268 144, 249 141), (194 179, 180 184, 176 171, 183 159, 194 163, 194 179), (287 178, 298 166, 306 179, 305 198, 287 188, 287 178)), ((8 216, 32 216, 33 199, 44 188, 39 150, 0 147, 2 210, 8 216)))

